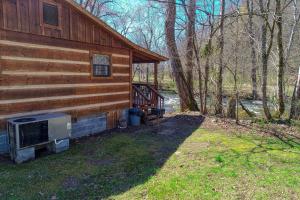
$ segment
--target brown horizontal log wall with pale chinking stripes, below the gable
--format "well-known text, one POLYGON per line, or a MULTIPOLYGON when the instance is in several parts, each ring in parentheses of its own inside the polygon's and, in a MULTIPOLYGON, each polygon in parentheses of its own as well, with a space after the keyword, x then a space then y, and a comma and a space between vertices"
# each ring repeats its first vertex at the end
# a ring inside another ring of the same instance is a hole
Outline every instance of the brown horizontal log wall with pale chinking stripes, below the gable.
POLYGON ((130 107, 128 50, 72 41, 61 41, 64 47, 50 46, 46 38, 40 38, 44 44, 19 41, 20 34, 0 32, 2 129, 7 118, 47 112, 66 112, 74 118, 108 112, 109 127, 116 125, 111 113, 130 107), (91 76, 91 52, 111 55, 112 77, 91 76))

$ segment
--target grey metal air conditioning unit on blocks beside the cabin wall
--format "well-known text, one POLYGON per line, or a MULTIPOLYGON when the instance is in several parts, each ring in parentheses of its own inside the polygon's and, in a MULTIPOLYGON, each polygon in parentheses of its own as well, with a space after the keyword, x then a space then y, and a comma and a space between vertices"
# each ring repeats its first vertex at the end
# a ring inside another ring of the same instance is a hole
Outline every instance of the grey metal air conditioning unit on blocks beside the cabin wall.
POLYGON ((35 149, 41 146, 56 149, 57 145, 66 144, 66 139, 69 145, 71 116, 51 113, 9 119, 7 129, 11 159, 22 163, 34 159, 35 149))

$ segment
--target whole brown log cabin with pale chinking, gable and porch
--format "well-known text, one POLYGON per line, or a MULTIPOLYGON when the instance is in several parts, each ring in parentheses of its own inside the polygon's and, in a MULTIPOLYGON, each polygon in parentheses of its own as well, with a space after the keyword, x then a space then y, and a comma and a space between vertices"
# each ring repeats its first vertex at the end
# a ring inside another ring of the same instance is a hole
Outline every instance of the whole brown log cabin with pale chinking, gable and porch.
POLYGON ((73 0, 0 0, 0 132, 12 117, 63 112, 80 137, 116 127, 133 106, 162 108, 166 60, 73 0), (153 63, 154 84, 133 83, 135 63, 153 63))

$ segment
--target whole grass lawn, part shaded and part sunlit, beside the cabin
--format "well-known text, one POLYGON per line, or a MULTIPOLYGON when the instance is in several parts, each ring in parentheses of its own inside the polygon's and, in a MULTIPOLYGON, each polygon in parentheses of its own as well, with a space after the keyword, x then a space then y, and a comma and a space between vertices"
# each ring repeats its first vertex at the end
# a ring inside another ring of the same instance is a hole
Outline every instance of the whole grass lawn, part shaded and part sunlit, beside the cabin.
POLYGON ((0 161, 0 199, 300 199, 299 142, 202 121, 177 116, 0 161))

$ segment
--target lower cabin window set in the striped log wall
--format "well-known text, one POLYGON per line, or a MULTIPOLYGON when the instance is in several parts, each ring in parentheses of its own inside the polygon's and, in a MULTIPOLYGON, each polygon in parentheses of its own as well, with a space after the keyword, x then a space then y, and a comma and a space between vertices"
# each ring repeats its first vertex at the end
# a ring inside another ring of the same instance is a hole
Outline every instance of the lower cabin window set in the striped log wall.
POLYGON ((94 54, 92 64, 94 77, 109 77, 111 75, 110 56, 94 54))

